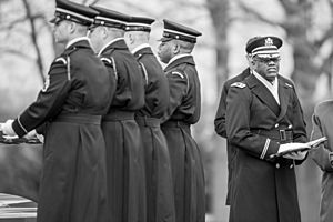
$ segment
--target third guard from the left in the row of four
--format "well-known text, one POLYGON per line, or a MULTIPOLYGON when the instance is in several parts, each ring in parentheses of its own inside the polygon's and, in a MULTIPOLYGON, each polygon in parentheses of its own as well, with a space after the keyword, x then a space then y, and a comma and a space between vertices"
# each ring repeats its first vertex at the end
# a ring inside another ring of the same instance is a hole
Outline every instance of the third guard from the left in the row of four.
POLYGON ((141 130, 145 163, 147 221, 174 222, 174 198, 171 163, 160 118, 169 104, 168 80, 149 46, 154 19, 131 17, 125 41, 147 75, 145 104, 135 113, 141 130))

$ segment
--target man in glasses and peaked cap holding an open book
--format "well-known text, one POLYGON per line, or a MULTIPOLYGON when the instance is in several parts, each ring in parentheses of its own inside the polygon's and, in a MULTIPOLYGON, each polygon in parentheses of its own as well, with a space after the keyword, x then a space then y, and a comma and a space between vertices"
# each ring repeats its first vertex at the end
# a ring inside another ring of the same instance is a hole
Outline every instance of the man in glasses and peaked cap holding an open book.
POLYGON ((300 222, 294 164, 306 152, 305 122, 293 83, 279 74, 282 40, 262 37, 246 51, 251 72, 226 95, 228 145, 235 151, 230 222, 300 222))

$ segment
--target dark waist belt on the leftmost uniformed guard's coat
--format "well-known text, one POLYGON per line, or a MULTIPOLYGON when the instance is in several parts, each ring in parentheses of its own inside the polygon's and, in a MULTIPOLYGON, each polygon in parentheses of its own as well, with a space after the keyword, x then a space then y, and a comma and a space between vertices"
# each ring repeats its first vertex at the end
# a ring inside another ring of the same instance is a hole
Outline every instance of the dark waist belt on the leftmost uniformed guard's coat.
POLYGON ((101 120, 102 120, 102 115, 67 113, 67 114, 60 114, 53 120, 53 122, 101 124, 101 120))

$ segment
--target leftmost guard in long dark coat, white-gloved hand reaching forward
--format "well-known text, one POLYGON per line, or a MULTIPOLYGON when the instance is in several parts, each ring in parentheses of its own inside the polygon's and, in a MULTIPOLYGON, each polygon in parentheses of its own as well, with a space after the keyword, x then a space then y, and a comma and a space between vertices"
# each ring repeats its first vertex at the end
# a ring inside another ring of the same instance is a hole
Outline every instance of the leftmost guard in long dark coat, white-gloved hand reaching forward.
POLYGON ((38 222, 107 220, 105 144, 101 115, 112 99, 110 74, 85 37, 97 11, 57 0, 54 37, 65 49, 52 62, 37 100, 2 125, 23 137, 47 124, 38 222), (97 90, 98 89, 98 90, 97 90))

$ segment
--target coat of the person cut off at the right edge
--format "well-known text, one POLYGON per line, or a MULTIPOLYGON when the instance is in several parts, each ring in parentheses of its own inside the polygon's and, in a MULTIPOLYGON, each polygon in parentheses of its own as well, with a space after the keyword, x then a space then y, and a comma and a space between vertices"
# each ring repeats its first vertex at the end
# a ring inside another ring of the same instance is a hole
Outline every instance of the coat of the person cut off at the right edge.
POLYGON ((329 141, 310 152, 310 157, 322 169, 322 195, 320 221, 333 221, 333 101, 324 101, 314 108, 311 140, 326 137, 329 141))

